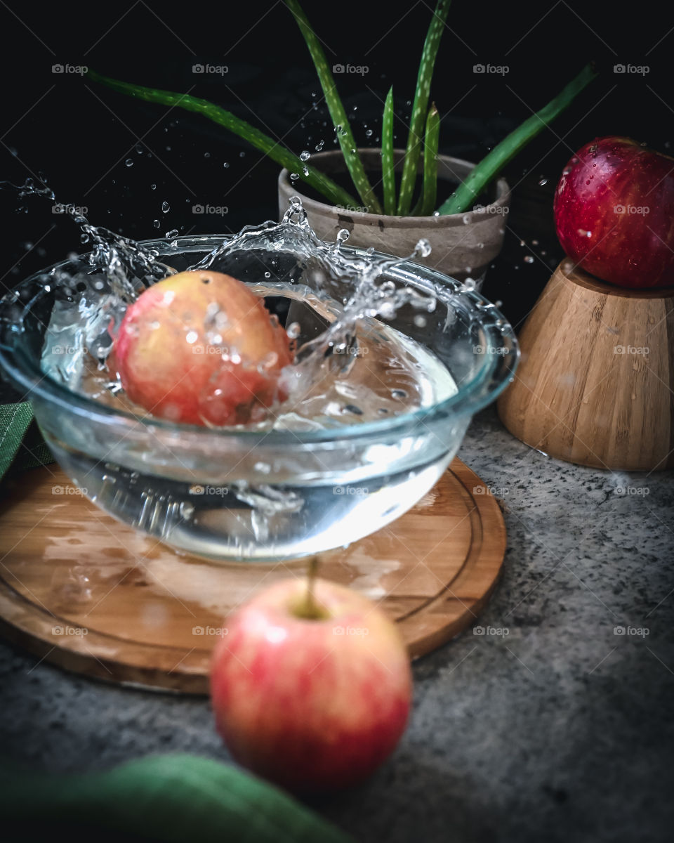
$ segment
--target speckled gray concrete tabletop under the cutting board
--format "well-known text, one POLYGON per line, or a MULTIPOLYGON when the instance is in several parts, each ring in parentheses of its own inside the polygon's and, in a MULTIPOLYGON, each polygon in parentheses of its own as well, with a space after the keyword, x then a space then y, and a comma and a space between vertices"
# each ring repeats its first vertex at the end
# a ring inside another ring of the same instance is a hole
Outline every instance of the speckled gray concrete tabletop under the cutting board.
MULTIPOLYGON (((392 759, 315 807, 364 843, 671 840, 671 472, 548 459, 493 409, 459 456, 506 510, 505 574, 484 634, 415 663, 414 711, 392 759)), ((172 750, 227 759, 205 699, 35 662, 0 645, 3 754, 50 771, 172 750)))

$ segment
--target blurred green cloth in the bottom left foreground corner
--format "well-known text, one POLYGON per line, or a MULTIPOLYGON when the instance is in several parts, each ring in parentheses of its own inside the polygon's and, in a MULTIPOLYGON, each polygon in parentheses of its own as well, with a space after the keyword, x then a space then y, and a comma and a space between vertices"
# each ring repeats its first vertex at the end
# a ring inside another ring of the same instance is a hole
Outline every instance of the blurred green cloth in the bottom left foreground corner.
POLYGON ((0 836, 8 843, 353 843, 286 792, 190 754, 75 776, 27 773, 4 761, 0 836))

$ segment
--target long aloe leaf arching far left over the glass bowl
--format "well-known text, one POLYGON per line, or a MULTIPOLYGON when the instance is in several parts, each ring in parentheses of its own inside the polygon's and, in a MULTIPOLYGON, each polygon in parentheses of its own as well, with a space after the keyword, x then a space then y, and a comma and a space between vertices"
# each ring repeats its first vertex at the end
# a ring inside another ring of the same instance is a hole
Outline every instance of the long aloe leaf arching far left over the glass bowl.
POLYGON ((108 88, 118 91, 120 94, 128 94, 129 96, 136 97, 136 99, 145 99, 147 102, 170 105, 174 108, 178 107, 187 111, 195 111, 197 114, 201 114, 209 120, 224 126, 230 132, 243 138, 244 141, 248 141, 251 146, 268 155, 276 164, 281 164, 281 167, 286 167, 292 173, 299 174, 303 181, 306 181, 308 185, 311 185, 322 196, 325 196, 333 205, 348 206, 358 204, 350 193, 341 188, 340 185, 335 184, 332 179, 329 179, 320 170, 308 166, 308 163, 301 161, 289 149, 281 146, 272 137, 265 135, 265 132, 260 132, 255 126, 251 126, 250 123, 233 115, 231 111, 227 111, 219 105, 209 102, 207 99, 192 97, 190 94, 177 94, 173 91, 143 88, 142 85, 132 85, 128 82, 121 82, 119 79, 102 76, 94 70, 89 70, 87 76, 93 82, 107 85, 108 88), (308 175, 304 174, 304 169, 308 170, 308 175))

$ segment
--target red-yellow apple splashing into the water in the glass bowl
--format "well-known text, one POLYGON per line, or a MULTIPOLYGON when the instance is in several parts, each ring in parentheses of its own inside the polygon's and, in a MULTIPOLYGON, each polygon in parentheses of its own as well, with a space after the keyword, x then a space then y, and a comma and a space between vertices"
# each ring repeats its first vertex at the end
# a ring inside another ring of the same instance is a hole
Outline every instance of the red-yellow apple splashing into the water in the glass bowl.
POLYGON ((292 345, 262 298, 221 272, 164 278, 127 309, 109 368, 152 415, 231 425, 264 416, 292 345))

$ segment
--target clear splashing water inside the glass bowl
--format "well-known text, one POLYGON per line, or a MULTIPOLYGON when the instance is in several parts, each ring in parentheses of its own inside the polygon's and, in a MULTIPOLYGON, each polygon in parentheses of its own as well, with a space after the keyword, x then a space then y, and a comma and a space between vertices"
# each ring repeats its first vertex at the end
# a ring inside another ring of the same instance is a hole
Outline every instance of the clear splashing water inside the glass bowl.
MULTIPOLYGON (((398 518, 436 483, 453 451, 428 448, 423 424, 399 443, 400 459, 392 461, 390 449, 372 441, 359 442, 357 454, 335 449, 342 457, 348 453, 346 460, 322 449, 310 469, 302 464, 303 432, 350 431, 457 392, 445 362, 387 324, 406 308, 415 325, 423 325, 437 303, 386 278, 399 259, 345 255, 346 233, 334 244, 318 240, 298 201, 281 223, 245 228, 206 254, 183 251, 178 240, 147 249, 75 218, 93 249, 86 262, 73 258, 45 277, 56 302, 43 372, 72 393, 130 414, 150 433, 142 454, 125 454, 115 442, 108 454, 92 455, 45 432, 63 469, 104 510, 191 554, 279 561, 348 545, 398 518), (166 459, 165 437, 159 447, 157 436, 155 449, 152 417, 110 379, 105 357, 128 303, 148 284, 185 268, 225 271, 251 284, 297 337, 298 352, 284 372, 288 399, 236 428, 258 434, 249 453, 236 460, 190 457, 181 468, 179 427, 171 434, 175 459, 166 459), (265 437, 276 431, 297 438, 297 465, 292 447, 265 449, 265 437)), ((451 296, 443 306, 449 321, 451 296)))

